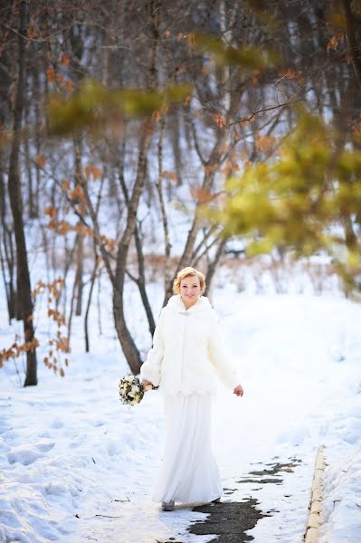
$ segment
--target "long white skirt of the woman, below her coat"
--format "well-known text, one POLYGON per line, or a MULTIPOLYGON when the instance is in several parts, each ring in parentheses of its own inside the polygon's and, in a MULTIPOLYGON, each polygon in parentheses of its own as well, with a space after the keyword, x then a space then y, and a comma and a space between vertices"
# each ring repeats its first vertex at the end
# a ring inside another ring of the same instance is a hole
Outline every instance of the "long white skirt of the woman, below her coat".
POLYGON ((154 501, 207 503, 223 487, 212 452, 212 395, 164 395, 166 443, 154 501))

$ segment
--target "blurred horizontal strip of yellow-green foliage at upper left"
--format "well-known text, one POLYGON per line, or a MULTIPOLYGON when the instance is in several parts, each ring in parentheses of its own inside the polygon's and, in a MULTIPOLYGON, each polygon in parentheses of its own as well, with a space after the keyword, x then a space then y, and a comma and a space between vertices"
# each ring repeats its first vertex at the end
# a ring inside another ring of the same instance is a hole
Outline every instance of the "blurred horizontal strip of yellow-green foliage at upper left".
POLYGON ((74 130, 101 129, 125 116, 148 117, 170 103, 185 100, 189 93, 187 85, 169 85, 164 91, 109 90, 85 80, 70 97, 60 93, 51 96, 47 110, 50 133, 65 136, 74 130))

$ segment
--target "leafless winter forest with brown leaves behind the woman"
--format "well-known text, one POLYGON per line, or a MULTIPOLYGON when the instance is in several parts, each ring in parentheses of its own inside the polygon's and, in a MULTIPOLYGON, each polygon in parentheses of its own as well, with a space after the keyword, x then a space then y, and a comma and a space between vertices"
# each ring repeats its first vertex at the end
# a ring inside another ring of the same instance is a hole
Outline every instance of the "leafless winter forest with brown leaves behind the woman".
POLYGON ((147 285, 166 302, 185 265, 207 293, 220 265, 266 265, 282 291, 296 258, 316 291, 335 275, 358 299, 360 2, 21 1, 0 18, 1 275, 24 323, 0 367, 20 357, 36 385, 43 329, 65 376, 73 318, 89 351, 108 281, 138 373, 127 290, 150 341, 147 285))

